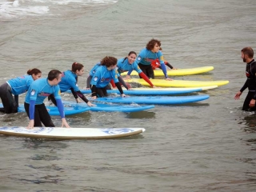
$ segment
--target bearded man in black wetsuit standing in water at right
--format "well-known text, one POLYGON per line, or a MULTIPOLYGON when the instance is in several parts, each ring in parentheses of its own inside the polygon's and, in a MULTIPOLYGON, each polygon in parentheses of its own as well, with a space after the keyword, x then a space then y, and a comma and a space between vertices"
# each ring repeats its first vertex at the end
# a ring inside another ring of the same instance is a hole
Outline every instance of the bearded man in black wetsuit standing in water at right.
POLYGON ((248 94, 243 103, 242 110, 254 111, 255 100, 256 100, 256 62, 254 61, 254 50, 251 47, 245 47, 241 50, 242 61, 246 62, 246 82, 242 86, 241 90, 235 94, 234 99, 237 100, 240 98, 240 95, 246 88, 248 88, 248 94))

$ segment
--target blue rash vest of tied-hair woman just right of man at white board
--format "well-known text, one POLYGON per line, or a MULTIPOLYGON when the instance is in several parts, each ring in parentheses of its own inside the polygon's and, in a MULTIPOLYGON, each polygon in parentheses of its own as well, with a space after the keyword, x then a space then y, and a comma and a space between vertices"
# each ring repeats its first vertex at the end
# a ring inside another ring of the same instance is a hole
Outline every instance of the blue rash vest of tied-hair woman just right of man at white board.
POLYGON ((77 84, 78 75, 74 74, 71 70, 66 70, 62 73, 62 81, 58 83, 58 86, 61 92, 65 92, 66 90, 70 90, 73 88, 74 91, 78 91, 79 87, 77 84))

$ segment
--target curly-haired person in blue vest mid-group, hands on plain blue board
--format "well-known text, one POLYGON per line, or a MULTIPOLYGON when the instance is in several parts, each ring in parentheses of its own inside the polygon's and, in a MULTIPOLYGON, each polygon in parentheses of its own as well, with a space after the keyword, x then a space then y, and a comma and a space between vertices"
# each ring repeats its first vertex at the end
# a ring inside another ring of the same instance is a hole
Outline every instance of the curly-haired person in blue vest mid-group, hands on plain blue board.
POLYGON ((126 96, 123 94, 122 87, 118 82, 118 72, 115 70, 117 62, 118 59, 114 57, 105 57, 102 59, 101 66, 98 67, 90 82, 92 98, 106 97, 106 86, 112 79, 114 80, 115 86, 118 87, 120 94, 122 94, 122 97, 126 96))

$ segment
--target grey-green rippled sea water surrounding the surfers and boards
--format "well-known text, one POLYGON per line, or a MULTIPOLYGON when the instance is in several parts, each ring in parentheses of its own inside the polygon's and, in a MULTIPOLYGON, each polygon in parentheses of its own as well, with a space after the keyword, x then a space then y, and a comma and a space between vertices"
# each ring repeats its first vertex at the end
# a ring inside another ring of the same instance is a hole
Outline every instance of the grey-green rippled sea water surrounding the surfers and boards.
MULTIPOLYGON (((34 67, 46 77, 81 62, 82 89, 95 63, 139 53, 151 38, 176 68, 214 66, 171 78, 230 83, 197 93, 210 95, 202 102, 66 117, 72 127, 146 128, 130 138, 0 136, 0 191, 255 191, 256 116, 241 110, 247 90, 234 100, 246 81, 241 50, 256 49, 255 9, 254 0, 1 0, 0 83, 34 67)), ((0 114, 0 126, 28 122, 24 113, 0 114)))

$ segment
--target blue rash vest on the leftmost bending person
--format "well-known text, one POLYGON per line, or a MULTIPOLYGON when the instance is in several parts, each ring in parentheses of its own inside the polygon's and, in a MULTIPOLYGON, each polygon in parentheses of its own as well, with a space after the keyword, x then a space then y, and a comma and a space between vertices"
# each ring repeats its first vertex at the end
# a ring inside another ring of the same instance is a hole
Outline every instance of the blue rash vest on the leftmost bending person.
POLYGON ((34 82, 34 79, 31 75, 27 74, 18 78, 12 78, 7 81, 7 84, 11 87, 11 93, 18 95, 25 93, 32 82, 34 82))

